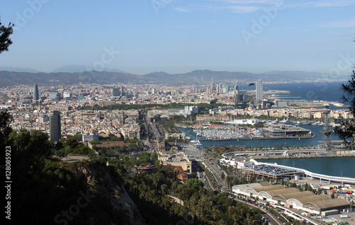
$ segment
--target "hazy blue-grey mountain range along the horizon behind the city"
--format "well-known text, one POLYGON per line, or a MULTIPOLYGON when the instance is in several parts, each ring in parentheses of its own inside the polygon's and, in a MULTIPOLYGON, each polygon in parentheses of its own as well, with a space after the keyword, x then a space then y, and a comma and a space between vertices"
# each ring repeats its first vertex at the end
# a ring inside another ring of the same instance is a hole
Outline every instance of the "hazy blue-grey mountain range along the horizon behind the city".
MULTIPOLYGON (((0 67, 4 68, 4 67, 0 67)), ((332 76, 317 72, 306 71, 269 71, 256 74, 245 71, 211 71, 195 70, 186 74, 168 74, 164 71, 153 72, 145 75, 130 74, 124 71, 80 71, 83 67, 68 66, 50 73, 29 72, 18 68, 18 71, 0 71, 0 87, 13 85, 58 86, 77 83, 126 83, 126 84, 168 84, 168 85, 196 85, 207 86, 211 83, 248 83, 262 79, 264 82, 291 83, 300 81, 319 81, 332 76), (65 70, 67 69, 67 70, 65 70), (72 72, 67 72, 72 71, 72 72), (77 72, 79 71, 79 72, 77 72), (277 81, 277 82, 275 82, 277 81)), ((349 80, 349 75, 338 76, 337 81, 349 80)))

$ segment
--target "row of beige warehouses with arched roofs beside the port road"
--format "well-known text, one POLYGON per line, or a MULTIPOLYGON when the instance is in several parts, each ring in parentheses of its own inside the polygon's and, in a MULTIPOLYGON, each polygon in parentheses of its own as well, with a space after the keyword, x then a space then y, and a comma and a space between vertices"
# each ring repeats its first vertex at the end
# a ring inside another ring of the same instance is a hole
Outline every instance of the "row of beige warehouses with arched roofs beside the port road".
POLYGON ((234 185, 232 191, 237 195, 258 197, 273 204, 312 214, 327 214, 327 212, 334 212, 334 209, 339 213, 342 209, 351 207, 344 199, 332 199, 328 195, 315 195, 310 191, 300 192, 297 188, 285 188, 283 185, 271 185, 267 182, 234 185))

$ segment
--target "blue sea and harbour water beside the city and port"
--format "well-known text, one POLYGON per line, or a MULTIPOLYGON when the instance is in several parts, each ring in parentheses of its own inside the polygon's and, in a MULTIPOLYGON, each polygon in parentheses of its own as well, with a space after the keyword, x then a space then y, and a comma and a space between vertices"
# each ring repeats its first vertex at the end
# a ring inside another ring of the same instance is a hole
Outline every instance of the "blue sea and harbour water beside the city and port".
MULTIPOLYGON (((290 91, 283 98, 288 99, 305 99, 317 101, 330 101, 344 103, 342 100, 343 91, 342 83, 337 82, 320 82, 320 83, 265 83, 264 88, 271 90, 290 91)), ((241 85, 241 90, 253 90, 255 86, 241 85)), ((346 103, 345 103, 346 104, 346 103)), ((347 109, 349 107, 335 107, 330 105, 331 110, 347 109)), ((201 138, 202 149, 204 146, 317 146, 322 142, 322 127, 312 125, 302 125, 306 129, 310 129, 315 137, 309 139, 264 139, 264 140, 232 140, 232 141, 207 141, 201 138)), ((179 128, 185 134, 196 138, 195 132, 191 128, 179 128)), ((200 138, 199 138, 200 139, 200 138)), ((332 140, 340 140, 337 134, 331 134, 332 140)), ((263 159, 265 163, 278 163, 284 166, 294 166, 303 168, 313 173, 321 173, 324 175, 345 176, 355 178, 355 157, 324 157, 324 158, 280 158, 280 159, 263 159)))

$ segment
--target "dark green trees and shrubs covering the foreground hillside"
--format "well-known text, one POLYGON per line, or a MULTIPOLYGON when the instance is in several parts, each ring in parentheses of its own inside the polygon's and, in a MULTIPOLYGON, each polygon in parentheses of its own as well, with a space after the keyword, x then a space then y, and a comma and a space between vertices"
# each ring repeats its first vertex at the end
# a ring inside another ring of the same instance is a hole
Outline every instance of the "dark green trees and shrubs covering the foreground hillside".
MULTIPOLYGON (((137 158, 111 152, 102 158, 92 156, 89 161, 63 163, 53 158, 56 146, 48 140, 48 134, 38 130, 12 131, 10 121, 11 116, 1 112, 0 138, 4 141, 1 144, 11 146, 11 175, 16 183, 11 190, 13 221, 23 224, 129 224, 125 213, 115 209, 108 197, 107 191, 112 184, 107 180, 111 180, 126 188, 143 217, 142 223, 263 224, 258 209, 229 200, 225 193, 207 190, 195 178, 181 183, 176 178, 175 168, 158 165, 156 154, 143 152, 137 158), (132 171, 148 163, 155 163, 158 171, 151 174, 132 171), (82 167, 97 172, 89 179, 78 171, 82 167), (109 179, 102 174, 109 174, 109 179), (82 195, 88 196, 89 204, 75 212, 77 208, 72 205, 76 205, 82 195), (184 204, 175 202, 170 195, 184 204)), ((64 148, 82 148, 74 140, 68 141, 63 144, 64 148)))

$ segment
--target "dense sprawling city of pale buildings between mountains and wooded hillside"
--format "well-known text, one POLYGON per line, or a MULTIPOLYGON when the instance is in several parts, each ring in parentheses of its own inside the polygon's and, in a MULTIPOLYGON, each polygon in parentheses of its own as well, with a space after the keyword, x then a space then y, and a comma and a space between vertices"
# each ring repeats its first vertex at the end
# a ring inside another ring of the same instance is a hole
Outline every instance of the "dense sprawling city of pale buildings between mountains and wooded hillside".
MULTIPOLYGON (((337 127, 342 120, 354 118, 349 109, 337 109, 344 108, 341 103, 299 98, 285 100, 282 97, 289 91, 264 88, 261 80, 249 86, 255 86, 255 89, 241 90, 238 85, 213 83, 213 78, 209 86, 178 88, 121 83, 51 87, 35 84, 1 88, 0 106, 12 116, 11 128, 16 132, 39 130, 48 134, 52 142, 66 146, 74 141, 86 146, 81 150, 60 149, 55 144, 52 154, 62 161, 75 163, 99 157, 106 160, 108 166, 124 155, 141 158, 142 154, 155 154, 155 163, 132 165, 128 172, 154 174, 158 172, 159 164, 174 166, 178 171, 175 179, 180 182, 197 178, 207 190, 228 193, 229 198, 261 209, 261 213, 265 213, 262 219, 265 224, 278 223, 283 218, 285 221, 293 219, 318 224, 334 211, 352 212, 349 210, 352 210, 354 190, 349 184, 355 183, 354 178, 317 175, 300 168, 258 162, 266 157, 353 156, 354 153, 347 151, 341 142, 329 140, 311 148, 300 146, 296 149, 289 146, 281 149, 256 147, 249 151, 235 146, 202 148, 201 143, 206 139, 249 139, 250 142, 252 139, 309 139, 314 135, 302 125, 337 127), (329 104, 334 105, 335 110, 329 110, 329 104), (191 134, 180 127, 191 129, 191 134), (245 181, 239 180, 243 177, 251 183, 246 185, 249 188, 244 187, 245 181), (289 183, 290 180, 294 183, 289 183), (324 185, 322 180, 332 182, 332 185, 324 185), (271 185, 266 181, 288 185, 271 185), (344 186, 344 182, 348 186, 344 186), (265 188, 269 185, 272 188, 265 188), (293 188, 288 191, 290 187, 293 188), (328 187, 332 187, 332 192, 326 191, 328 187), (253 191, 246 192, 250 188, 253 191), (288 202, 288 198, 295 197, 295 192, 303 193, 302 190, 305 194, 297 199, 300 205, 296 207, 295 202, 288 202), (309 190, 313 190, 312 195, 308 195, 309 190), (284 194, 280 195, 280 192, 284 194), (336 197, 334 193, 337 193, 336 197), (313 197, 318 195, 319 200, 313 197), (302 203, 305 197, 310 199, 303 202, 311 206, 302 203), (318 201, 327 201, 327 207, 322 207, 318 201), (264 211, 266 207, 268 210, 264 211), (290 211, 292 207, 295 210, 290 211), (285 214, 280 214, 283 210, 285 214), (319 216, 321 214, 323 217, 319 216)), ((182 204, 183 197, 174 198, 182 204)))

